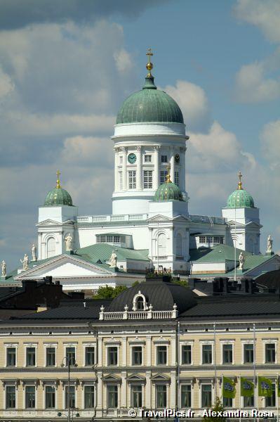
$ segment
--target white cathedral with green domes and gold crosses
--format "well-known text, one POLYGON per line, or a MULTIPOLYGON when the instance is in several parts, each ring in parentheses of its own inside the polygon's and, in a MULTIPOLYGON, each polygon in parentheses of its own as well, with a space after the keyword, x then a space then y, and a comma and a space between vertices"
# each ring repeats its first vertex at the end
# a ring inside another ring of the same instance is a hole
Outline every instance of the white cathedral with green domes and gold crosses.
POLYGON ((221 216, 189 213, 185 165, 192 158, 184 117, 173 98, 157 89, 150 49, 147 56, 142 89, 126 98, 116 117, 112 213, 80 215, 58 172, 39 207, 36 252, 13 281, 51 275, 66 290, 94 290, 102 283, 129 285, 147 269, 202 278, 275 269, 279 257, 271 248, 260 255, 259 209, 240 172, 221 216))

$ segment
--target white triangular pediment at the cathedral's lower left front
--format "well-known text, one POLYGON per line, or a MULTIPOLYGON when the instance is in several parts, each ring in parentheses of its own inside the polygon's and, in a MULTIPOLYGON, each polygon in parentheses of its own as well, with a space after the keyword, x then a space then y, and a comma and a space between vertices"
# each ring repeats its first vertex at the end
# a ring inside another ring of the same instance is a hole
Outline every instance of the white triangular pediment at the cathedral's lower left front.
POLYGON ((22 271, 14 279, 43 279, 53 276, 54 279, 75 279, 79 277, 91 278, 94 276, 112 276, 114 271, 103 269, 98 265, 86 262, 75 255, 59 255, 47 262, 34 264, 27 271, 22 271))

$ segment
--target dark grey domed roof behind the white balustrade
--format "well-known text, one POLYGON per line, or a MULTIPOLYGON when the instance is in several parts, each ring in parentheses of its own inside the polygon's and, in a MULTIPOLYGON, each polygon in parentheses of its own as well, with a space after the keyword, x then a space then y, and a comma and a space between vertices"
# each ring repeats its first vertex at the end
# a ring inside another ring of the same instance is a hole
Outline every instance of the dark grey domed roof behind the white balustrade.
POLYGON ((196 304, 192 290, 155 278, 147 279, 143 283, 124 290, 124 292, 114 298, 109 309, 105 308, 105 312, 124 311, 125 305, 128 305, 128 310, 131 310, 133 298, 139 290, 145 295, 148 305, 152 304, 154 311, 172 310, 175 303, 180 313, 196 304))

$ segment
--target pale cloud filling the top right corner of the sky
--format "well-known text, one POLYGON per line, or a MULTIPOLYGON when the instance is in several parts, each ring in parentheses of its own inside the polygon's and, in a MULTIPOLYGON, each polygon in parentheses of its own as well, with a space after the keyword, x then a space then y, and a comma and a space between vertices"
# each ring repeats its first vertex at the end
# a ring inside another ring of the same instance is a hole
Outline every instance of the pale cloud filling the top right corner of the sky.
POLYGON ((236 17, 258 27, 265 37, 280 42, 279 0, 237 0, 236 17))

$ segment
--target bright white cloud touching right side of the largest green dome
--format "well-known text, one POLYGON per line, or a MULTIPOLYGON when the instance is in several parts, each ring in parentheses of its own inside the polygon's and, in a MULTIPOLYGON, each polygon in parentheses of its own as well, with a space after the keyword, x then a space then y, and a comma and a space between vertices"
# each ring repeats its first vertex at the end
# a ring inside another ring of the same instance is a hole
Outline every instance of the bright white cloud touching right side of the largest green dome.
POLYGON ((178 80, 175 87, 164 89, 182 110, 185 124, 191 130, 205 128, 209 121, 209 104, 204 89, 191 82, 178 80))

